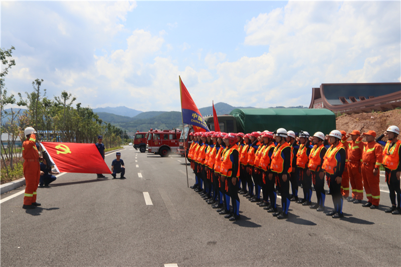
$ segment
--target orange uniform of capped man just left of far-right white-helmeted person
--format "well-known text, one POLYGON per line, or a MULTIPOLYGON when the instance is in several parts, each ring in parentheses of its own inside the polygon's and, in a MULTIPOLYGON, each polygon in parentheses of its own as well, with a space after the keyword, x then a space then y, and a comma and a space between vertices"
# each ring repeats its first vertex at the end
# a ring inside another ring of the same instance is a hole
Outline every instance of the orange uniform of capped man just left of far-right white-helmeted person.
POLYGON ((373 175, 373 169, 381 166, 383 149, 375 141, 362 143, 363 151, 361 172, 363 187, 365 188, 367 200, 372 203, 372 205, 378 206, 380 201, 380 175, 379 171, 377 171, 376 175, 373 175))

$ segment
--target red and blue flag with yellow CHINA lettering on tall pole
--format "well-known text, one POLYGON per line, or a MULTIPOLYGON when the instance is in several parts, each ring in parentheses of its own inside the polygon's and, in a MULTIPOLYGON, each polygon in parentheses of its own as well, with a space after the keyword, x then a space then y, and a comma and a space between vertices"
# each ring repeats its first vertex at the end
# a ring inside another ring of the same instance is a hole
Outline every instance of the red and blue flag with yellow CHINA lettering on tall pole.
POLYGON ((184 83, 179 77, 179 91, 181 93, 181 115, 182 123, 190 124, 193 126, 195 132, 209 132, 209 128, 204 121, 204 117, 200 114, 197 109, 195 102, 188 90, 186 89, 184 83))

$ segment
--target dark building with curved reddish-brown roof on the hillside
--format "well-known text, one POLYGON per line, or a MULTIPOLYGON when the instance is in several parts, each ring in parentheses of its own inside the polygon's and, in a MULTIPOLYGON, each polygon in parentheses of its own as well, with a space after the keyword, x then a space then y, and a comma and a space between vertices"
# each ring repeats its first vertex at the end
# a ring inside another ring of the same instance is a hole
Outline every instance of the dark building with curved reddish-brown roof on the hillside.
POLYGON ((401 83, 321 84, 312 88, 310 109, 334 113, 386 111, 401 107, 401 83))

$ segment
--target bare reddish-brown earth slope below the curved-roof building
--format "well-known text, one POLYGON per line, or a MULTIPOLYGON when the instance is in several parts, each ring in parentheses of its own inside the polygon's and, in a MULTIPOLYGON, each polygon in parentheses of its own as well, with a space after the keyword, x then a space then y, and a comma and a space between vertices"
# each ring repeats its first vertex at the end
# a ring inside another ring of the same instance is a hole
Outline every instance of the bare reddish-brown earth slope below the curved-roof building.
POLYGON ((386 112, 345 114, 336 119, 337 130, 344 130, 347 133, 352 130, 361 132, 373 130, 379 136, 390 125, 396 125, 401 129, 401 109, 386 112))

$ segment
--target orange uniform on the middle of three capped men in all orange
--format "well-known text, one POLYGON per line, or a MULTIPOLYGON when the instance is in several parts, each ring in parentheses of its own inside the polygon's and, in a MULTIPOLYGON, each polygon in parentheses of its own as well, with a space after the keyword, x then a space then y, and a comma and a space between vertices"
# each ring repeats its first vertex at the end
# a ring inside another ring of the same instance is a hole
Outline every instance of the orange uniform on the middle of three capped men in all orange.
POLYGON ((362 138, 359 137, 356 141, 349 141, 347 143, 348 175, 352 188, 352 198, 354 199, 363 199, 363 181, 360 172, 363 151, 361 139, 362 138))

